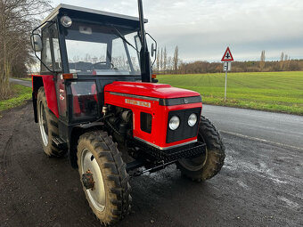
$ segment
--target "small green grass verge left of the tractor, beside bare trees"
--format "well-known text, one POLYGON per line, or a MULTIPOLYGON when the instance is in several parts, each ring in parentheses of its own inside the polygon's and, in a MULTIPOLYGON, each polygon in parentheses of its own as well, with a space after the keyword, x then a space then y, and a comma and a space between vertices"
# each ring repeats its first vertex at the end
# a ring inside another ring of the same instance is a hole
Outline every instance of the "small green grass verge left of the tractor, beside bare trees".
POLYGON ((8 100, 0 101, 0 113, 6 109, 12 109, 13 107, 20 106, 25 101, 31 98, 31 87, 23 85, 11 85, 13 89, 14 97, 8 100))

